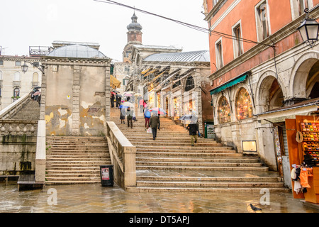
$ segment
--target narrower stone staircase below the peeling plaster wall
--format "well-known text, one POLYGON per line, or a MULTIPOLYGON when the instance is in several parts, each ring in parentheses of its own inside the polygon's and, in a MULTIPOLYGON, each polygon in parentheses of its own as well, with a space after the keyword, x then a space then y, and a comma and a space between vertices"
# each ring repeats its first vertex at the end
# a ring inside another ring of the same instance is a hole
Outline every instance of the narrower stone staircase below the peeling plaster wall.
POLYGON ((99 183, 100 165, 111 165, 106 138, 47 136, 45 184, 99 183))

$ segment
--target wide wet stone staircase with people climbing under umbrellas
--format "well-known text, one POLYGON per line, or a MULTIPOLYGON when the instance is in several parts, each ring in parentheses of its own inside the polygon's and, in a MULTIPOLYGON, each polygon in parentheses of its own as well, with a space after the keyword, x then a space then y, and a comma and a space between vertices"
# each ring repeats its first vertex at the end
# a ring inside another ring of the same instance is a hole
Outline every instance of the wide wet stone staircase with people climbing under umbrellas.
POLYGON ((213 139, 199 138, 192 147, 189 132, 164 117, 156 140, 152 140, 143 117, 128 128, 119 115, 118 109, 111 109, 111 121, 137 148, 137 187, 128 187, 129 192, 289 190, 278 173, 269 171, 257 156, 236 153, 213 139))

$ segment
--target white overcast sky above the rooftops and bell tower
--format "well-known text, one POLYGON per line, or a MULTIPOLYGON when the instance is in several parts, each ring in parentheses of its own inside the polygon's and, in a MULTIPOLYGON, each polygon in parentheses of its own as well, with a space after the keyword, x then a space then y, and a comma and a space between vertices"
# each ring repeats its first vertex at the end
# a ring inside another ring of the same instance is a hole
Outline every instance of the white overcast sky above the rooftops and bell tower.
MULTIPOLYGON (((102 0, 103 1, 103 0, 102 0)), ((114 0, 208 28, 202 0, 114 0)), ((28 55, 29 46, 52 46, 55 40, 99 43, 100 51, 122 61, 126 26, 133 10, 94 0, 1 0, 2 55, 28 55)), ((183 51, 208 50, 208 34, 163 18, 135 12, 142 44, 177 45, 183 51)))

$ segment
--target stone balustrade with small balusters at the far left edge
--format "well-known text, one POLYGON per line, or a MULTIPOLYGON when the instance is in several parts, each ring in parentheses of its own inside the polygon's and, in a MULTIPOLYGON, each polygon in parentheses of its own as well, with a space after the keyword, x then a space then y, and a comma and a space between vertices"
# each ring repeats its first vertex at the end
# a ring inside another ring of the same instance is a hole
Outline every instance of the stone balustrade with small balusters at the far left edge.
POLYGON ((0 120, 0 135, 37 135, 38 121, 0 120))

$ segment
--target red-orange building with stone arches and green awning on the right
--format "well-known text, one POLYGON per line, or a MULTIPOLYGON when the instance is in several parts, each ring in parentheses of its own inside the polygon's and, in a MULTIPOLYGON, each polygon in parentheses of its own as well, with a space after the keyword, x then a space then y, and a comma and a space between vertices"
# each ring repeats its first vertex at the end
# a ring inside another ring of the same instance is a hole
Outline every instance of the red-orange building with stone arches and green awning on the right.
POLYGON ((217 138, 280 172, 288 148, 281 139, 276 151, 274 126, 279 134, 286 130, 273 113, 319 97, 318 43, 310 48, 297 30, 306 8, 318 21, 319 0, 204 0, 203 7, 217 138), (245 148, 247 141, 253 148, 245 148))

